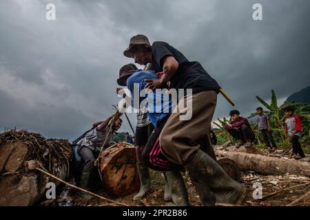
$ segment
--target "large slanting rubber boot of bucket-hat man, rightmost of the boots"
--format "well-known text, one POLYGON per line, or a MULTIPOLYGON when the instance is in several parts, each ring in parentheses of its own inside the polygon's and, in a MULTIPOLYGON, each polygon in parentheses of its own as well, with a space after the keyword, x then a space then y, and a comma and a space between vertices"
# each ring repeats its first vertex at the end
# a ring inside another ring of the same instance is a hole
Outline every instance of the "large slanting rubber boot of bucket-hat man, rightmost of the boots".
POLYGON ((185 168, 194 179, 209 186, 217 203, 240 204, 245 199, 246 190, 242 184, 231 179, 209 155, 198 150, 192 158, 191 162, 185 164, 185 168))

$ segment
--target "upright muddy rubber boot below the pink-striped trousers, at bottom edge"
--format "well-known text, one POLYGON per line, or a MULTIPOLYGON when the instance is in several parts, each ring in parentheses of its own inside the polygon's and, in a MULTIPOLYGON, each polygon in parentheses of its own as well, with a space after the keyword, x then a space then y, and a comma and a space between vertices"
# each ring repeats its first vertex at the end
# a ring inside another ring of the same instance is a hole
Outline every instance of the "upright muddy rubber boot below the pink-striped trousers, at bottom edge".
MULTIPOLYGON (((187 188, 180 171, 166 171, 165 176, 171 190, 174 206, 189 206, 187 188)), ((168 204, 172 205, 172 204, 168 204)))

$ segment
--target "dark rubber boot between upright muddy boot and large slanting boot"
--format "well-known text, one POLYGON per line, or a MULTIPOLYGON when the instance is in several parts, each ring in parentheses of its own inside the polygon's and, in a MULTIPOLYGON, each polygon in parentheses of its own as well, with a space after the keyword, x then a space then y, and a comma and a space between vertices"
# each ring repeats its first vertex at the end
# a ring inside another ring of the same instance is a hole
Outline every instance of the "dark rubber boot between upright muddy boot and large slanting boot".
POLYGON ((216 198, 214 197, 214 194, 211 192, 209 186, 205 184, 205 182, 200 181, 199 179, 193 177, 191 173, 189 173, 189 177, 191 178, 196 188, 196 192, 203 206, 215 206, 216 198))

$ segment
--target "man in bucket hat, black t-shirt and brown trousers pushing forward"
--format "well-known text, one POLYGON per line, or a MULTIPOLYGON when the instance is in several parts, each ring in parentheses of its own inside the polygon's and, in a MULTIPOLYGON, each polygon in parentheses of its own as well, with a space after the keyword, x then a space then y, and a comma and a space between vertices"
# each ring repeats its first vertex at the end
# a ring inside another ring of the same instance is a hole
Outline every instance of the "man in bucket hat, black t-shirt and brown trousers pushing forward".
MULTIPOLYGON (((140 65, 152 63, 156 73, 163 72, 160 79, 146 79, 146 88, 162 89, 169 85, 174 89, 192 89, 192 96, 184 96, 179 102, 192 100, 192 118, 180 120, 180 111, 172 113, 160 135, 163 155, 169 161, 184 166, 193 179, 200 200, 206 206, 210 199, 218 203, 241 203, 246 189, 234 181, 225 170, 200 148, 200 142, 207 134, 208 147, 211 120, 216 109, 220 86, 198 62, 190 62, 176 48, 157 41, 152 45, 146 36, 138 34, 130 39, 124 55, 134 58, 140 65)), ((185 107, 189 108, 189 107, 185 107)), ((184 109, 184 107, 183 107, 184 109)))

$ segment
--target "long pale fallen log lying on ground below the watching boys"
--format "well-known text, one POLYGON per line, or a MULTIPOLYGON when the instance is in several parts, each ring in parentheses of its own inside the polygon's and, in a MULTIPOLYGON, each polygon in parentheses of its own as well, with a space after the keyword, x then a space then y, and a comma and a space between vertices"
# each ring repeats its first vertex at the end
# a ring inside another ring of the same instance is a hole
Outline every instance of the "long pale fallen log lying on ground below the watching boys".
POLYGON ((289 173, 310 177, 309 162, 220 150, 216 151, 216 156, 233 159, 241 169, 253 170, 266 175, 285 175, 289 173))

